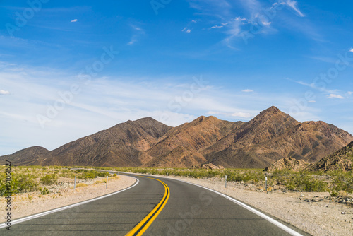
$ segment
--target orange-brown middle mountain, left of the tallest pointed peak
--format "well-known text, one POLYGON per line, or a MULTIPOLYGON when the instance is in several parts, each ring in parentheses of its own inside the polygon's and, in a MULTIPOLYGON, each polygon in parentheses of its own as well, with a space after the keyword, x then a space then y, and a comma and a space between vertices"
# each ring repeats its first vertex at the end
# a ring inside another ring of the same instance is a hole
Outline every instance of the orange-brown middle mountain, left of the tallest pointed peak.
POLYGON ((193 122, 170 129, 156 146, 147 152, 152 160, 148 167, 191 167, 205 163, 200 153, 217 143, 244 122, 227 122, 216 117, 198 117, 193 122), (180 165, 175 165, 180 163, 180 165))

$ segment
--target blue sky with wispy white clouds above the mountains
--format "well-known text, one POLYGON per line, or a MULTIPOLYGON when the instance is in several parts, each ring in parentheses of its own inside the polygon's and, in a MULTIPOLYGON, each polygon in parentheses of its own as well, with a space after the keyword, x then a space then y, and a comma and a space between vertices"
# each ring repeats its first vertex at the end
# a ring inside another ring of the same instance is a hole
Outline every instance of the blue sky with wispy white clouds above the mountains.
POLYGON ((0 1, 0 155, 115 124, 249 121, 353 134, 351 1, 0 1))

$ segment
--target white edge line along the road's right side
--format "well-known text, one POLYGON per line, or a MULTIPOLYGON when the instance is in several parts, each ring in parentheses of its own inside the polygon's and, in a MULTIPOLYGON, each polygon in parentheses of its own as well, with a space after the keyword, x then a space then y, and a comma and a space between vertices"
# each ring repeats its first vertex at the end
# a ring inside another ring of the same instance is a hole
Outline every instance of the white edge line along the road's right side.
MULTIPOLYGON (((121 172, 123 173, 123 172, 121 172)), ((129 172, 124 172, 126 174, 133 174, 133 175, 136 175, 136 173, 129 173, 129 172)), ((143 175, 143 174, 137 174, 137 175, 143 175)), ((148 175, 150 176, 150 175, 148 175)), ((161 176, 156 176, 156 177, 161 177, 161 176)), ((169 178, 169 177, 161 177, 161 178, 164 178, 164 179, 173 179, 173 178, 169 178)), ((174 179, 174 180, 177 180, 177 181, 180 181, 180 182, 184 182, 184 183, 187 183, 187 184, 193 184, 191 182, 187 182, 187 181, 184 181, 184 180, 181 180, 181 179, 174 179)), ((232 197, 230 196, 227 196, 225 194, 222 194, 221 192, 219 191, 215 191, 213 189, 209 189, 208 187, 204 187, 204 186, 201 186, 201 185, 198 185, 198 184, 193 184, 195 186, 198 186, 198 187, 201 187, 203 189, 207 189, 209 191, 213 191, 214 193, 216 194, 219 194, 220 196, 223 196, 225 197, 226 199, 228 199, 229 201, 232 201, 234 203, 237 203, 239 206, 242 206, 244 208, 246 208, 247 210, 255 213, 256 215, 258 216, 261 216, 262 218, 264 218, 265 220, 268 220, 270 223, 273 223, 274 225, 276 225, 278 228, 281 228, 282 230, 285 230, 285 232, 288 232, 290 235, 293 235, 293 236, 303 236, 301 235, 299 232, 295 231, 295 230, 292 230, 291 228, 289 228, 288 226, 286 225, 283 225, 282 223, 278 222, 277 220, 273 219, 273 218, 270 218, 270 216, 267 216, 265 215, 264 213, 261 213, 260 211, 252 208, 251 206, 248 206, 244 203, 242 203, 241 201, 238 201, 237 199, 233 199, 232 197)))

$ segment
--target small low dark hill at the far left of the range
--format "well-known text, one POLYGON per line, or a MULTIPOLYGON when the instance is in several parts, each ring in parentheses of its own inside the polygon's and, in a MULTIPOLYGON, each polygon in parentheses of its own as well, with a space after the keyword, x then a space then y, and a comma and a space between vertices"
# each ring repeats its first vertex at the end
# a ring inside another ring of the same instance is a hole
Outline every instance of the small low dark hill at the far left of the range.
POLYGON ((42 165, 45 158, 50 157, 50 151, 40 146, 25 148, 11 155, 3 155, 0 157, 2 163, 10 160, 12 165, 42 165))

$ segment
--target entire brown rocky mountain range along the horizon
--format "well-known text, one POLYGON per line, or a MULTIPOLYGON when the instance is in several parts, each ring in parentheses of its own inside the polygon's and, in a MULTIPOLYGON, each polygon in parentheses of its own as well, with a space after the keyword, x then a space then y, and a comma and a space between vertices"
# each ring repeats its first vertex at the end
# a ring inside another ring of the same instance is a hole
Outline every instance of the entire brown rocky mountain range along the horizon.
POLYGON ((353 136, 325 122, 297 122, 270 107, 249 122, 198 117, 170 127, 152 118, 117 124, 53 151, 26 148, 0 157, 13 165, 264 168, 282 158, 314 162, 347 146, 353 136))

